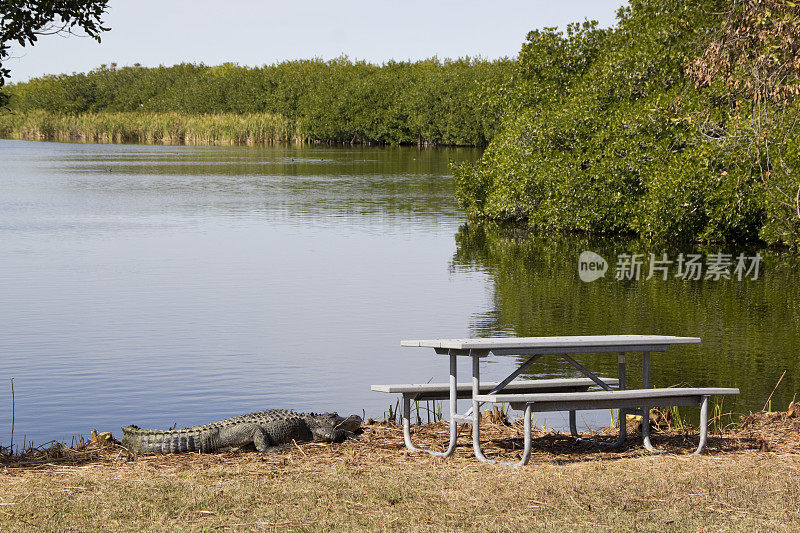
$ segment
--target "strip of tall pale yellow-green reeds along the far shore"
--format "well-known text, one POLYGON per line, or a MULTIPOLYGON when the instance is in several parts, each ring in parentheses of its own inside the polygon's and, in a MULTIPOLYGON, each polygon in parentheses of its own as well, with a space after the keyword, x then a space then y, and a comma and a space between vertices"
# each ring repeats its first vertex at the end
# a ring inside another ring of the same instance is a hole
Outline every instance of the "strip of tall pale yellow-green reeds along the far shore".
POLYGON ((95 143, 270 144, 302 140, 271 113, 0 113, 0 137, 95 143))

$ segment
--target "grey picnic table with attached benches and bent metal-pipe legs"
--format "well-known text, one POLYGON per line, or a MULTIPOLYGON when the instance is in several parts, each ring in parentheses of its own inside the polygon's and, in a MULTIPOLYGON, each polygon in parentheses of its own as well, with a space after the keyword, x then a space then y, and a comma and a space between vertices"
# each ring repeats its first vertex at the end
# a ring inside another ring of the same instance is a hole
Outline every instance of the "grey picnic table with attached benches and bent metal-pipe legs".
POLYGON ((619 409, 619 438, 612 446, 621 446, 626 439, 626 412, 642 414, 642 441, 646 449, 657 451, 650 442, 649 413, 652 407, 667 405, 699 405, 701 407, 700 444, 695 453, 702 453, 706 445, 708 398, 716 394, 738 394, 738 389, 730 388, 669 388, 650 387, 650 354, 664 352, 673 344, 696 344, 697 337, 674 337, 666 335, 589 335, 565 337, 500 337, 478 339, 435 339, 404 340, 402 346, 433 348, 437 354, 450 358, 450 381, 448 384, 425 385, 373 385, 380 392, 403 394, 403 427, 406 446, 413 451, 423 451, 432 455, 450 456, 456 446, 458 424, 472 424, 472 445, 475 456, 484 462, 523 465, 527 463, 531 451, 531 413, 533 411, 569 411, 570 432, 578 437, 575 411, 585 409, 619 409), (626 354, 642 354, 642 389, 627 390, 626 354), (616 379, 600 377, 571 357, 571 354, 617 354, 616 379), (481 359, 491 355, 528 356, 505 379, 490 386, 481 384, 481 359), (560 357, 580 371, 586 378, 582 380, 516 380, 539 358, 552 355, 560 357), (457 380, 458 357, 472 359, 472 384, 468 389, 457 380), (596 385, 601 390, 588 391, 596 385), (613 386, 618 390, 613 390, 613 386), (426 388, 427 387, 427 388, 426 388), (450 401, 450 442, 447 450, 437 452, 416 448, 411 442, 409 404, 413 399, 441 397, 447 392, 450 401), (436 395, 439 396, 436 396, 436 395), (464 414, 457 409, 458 398, 468 397, 471 408, 464 414), (511 404, 513 408, 523 409, 525 427, 525 447, 519 463, 508 463, 487 459, 480 444, 480 407, 483 403, 511 404))

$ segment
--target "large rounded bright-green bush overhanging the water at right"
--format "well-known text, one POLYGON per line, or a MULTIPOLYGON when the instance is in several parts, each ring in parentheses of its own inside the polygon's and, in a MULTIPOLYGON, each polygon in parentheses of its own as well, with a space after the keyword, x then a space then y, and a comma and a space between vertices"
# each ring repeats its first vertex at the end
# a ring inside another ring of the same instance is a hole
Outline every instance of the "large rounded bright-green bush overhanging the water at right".
MULTIPOLYGON (((687 76, 719 37, 727 8, 634 0, 613 29, 585 23, 529 34, 513 81, 499 87, 500 132, 481 161, 455 168, 461 205, 541 231, 798 242, 798 225, 787 223, 759 172, 774 163, 747 143, 721 141, 735 121, 737 135, 752 130, 759 109, 687 76)), ((781 94, 781 105, 796 105, 791 91, 781 94)), ((783 120, 763 129, 768 142, 786 140, 790 169, 794 128, 783 120)))

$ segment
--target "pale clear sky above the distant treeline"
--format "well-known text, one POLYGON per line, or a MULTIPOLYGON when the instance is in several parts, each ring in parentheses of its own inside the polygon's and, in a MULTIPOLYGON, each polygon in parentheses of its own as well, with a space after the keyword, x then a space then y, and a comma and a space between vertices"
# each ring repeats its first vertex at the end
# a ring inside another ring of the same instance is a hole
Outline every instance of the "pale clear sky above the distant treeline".
POLYGON ((432 56, 517 55, 533 29, 597 20, 623 0, 111 0, 102 42, 43 36, 12 48, 11 81, 87 72, 102 64, 225 62, 260 66, 347 55, 382 63, 432 56))

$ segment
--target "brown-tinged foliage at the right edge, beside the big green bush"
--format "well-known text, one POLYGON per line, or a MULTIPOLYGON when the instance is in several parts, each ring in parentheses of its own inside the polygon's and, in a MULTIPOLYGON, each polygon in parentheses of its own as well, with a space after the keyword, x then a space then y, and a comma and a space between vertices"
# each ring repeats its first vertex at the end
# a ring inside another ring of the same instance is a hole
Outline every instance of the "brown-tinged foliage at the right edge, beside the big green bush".
POLYGON ((800 243, 800 7, 789 0, 730 2, 724 24, 687 66, 719 111, 699 117, 701 134, 759 176, 768 200, 768 241, 800 243))

